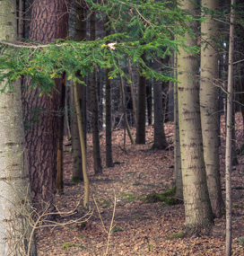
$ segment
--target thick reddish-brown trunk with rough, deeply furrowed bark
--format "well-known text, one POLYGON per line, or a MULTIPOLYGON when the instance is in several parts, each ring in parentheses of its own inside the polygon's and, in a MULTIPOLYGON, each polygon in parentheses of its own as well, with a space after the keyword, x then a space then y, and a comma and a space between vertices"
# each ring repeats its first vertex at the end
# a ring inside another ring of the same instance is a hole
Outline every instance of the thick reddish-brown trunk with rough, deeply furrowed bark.
MULTIPOLYGON (((47 42, 65 39, 68 2, 38 0, 32 5, 30 40, 47 42)), ((27 82, 27 81, 26 81, 27 82)), ((27 83, 25 83, 27 84, 27 83)), ((60 91, 62 79, 56 79, 60 91)), ((45 85, 45 84, 42 84, 45 85)), ((28 126, 26 142, 29 156, 30 189, 38 211, 52 205, 57 167, 57 102, 60 93, 39 96, 39 87, 30 92, 26 85, 22 93, 23 115, 28 126)))

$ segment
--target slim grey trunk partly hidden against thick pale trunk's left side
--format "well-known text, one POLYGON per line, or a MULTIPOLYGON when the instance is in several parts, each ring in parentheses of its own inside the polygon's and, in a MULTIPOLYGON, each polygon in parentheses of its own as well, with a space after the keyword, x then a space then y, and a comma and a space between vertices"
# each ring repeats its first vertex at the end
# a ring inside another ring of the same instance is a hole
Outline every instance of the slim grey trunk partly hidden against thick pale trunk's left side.
MULTIPOLYGON (((177 66, 177 54, 174 56, 175 65, 177 66)), ((175 72, 177 78, 177 72, 175 72)), ((179 141, 179 102, 178 102, 178 84, 174 83, 174 159, 175 159, 175 179, 176 179, 176 198, 183 199, 183 183, 181 170, 181 155, 179 141)))

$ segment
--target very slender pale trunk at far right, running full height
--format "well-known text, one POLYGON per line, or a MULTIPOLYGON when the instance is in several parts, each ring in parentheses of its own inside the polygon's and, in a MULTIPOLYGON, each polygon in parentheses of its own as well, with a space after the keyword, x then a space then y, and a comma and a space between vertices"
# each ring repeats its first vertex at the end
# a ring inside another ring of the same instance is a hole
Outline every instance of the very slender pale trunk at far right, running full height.
POLYGON ((233 55, 234 55, 234 6, 231 0, 229 63, 228 63, 228 88, 227 88, 227 117, 226 117, 226 149, 225 149, 225 186, 226 186, 226 256, 231 255, 231 171, 232 171, 232 94, 233 94, 233 55))

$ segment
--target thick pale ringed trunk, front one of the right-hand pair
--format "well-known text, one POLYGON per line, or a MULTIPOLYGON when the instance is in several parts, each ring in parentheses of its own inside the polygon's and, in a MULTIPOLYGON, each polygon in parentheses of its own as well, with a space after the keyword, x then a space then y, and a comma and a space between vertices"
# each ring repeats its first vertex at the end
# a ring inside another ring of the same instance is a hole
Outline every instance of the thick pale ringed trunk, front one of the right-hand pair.
MULTIPOLYGON (((196 1, 180 1, 187 13, 196 13, 196 1)), ((196 22, 188 22, 196 31, 196 22)), ((196 46, 196 39, 185 35, 185 44, 196 46)), ((203 139, 200 119, 197 55, 179 49, 178 100, 179 140, 187 234, 208 234, 213 226, 213 213, 207 190, 203 139)))

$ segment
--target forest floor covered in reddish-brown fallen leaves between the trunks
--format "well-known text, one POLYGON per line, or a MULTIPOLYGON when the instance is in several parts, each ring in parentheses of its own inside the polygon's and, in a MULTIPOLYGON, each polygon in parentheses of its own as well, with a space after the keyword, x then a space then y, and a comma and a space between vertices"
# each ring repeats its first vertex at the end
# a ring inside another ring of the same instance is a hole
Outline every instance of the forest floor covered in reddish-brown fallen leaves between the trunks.
MULTIPOLYGON (((132 131, 135 137, 135 129, 132 131)), ((168 141, 172 142, 173 124, 166 124, 165 131, 168 141)), ((223 121, 221 137, 222 193, 225 198, 223 121)), ((240 114, 236 120, 236 141, 237 148, 244 143, 240 114)), ((39 255, 224 255, 224 216, 215 219, 215 225, 223 227, 222 236, 172 238, 171 235, 178 234, 184 226, 184 206, 147 202, 148 195, 153 192, 161 193, 174 186, 173 148, 159 151, 151 150, 152 146, 153 127, 146 128, 145 145, 130 145, 126 136, 124 146, 124 130, 116 130, 113 132, 116 164, 106 168, 105 133, 101 132, 103 173, 95 176, 92 135, 88 135, 90 212, 83 210, 83 183, 71 181, 71 147, 65 146, 65 190, 63 195, 56 196, 56 205, 62 212, 74 210, 77 204, 78 207, 73 215, 64 214, 59 218, 60 224, 69 224, 38 230, 39 255), (82 223, 85 219, 89 220, 82 223), (109 234, 111 222, 113 229, 109 234)), ((232 172, 232 255, 244 255, 244 238, 239 239, 244 236, 244 156, 239 156, 238 160, 239 164, 232 172)))

